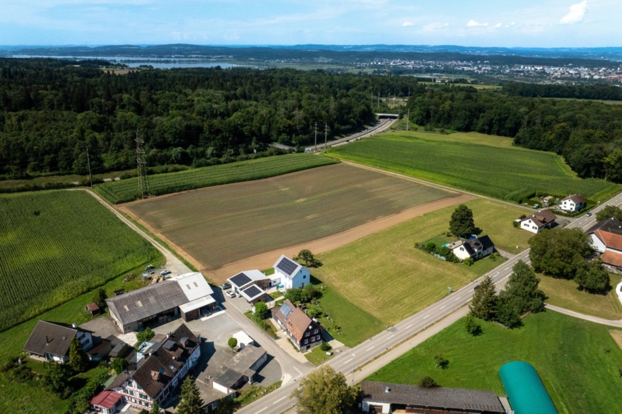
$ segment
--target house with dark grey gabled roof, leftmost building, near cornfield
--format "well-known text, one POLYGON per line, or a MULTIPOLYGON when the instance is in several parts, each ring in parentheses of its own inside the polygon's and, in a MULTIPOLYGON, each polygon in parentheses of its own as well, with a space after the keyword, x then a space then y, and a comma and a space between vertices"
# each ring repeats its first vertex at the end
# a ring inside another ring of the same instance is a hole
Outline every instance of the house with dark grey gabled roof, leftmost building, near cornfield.
POLYGON ((71 340, 76 337, 82 344, 82 349, 88 351, 93 347, 93 335, 91 334, 91 331, 79 328, 76 324, 39 321, 26 345, 23 346, 23 350, 31 356, 64 364, 69 361, 71 340))

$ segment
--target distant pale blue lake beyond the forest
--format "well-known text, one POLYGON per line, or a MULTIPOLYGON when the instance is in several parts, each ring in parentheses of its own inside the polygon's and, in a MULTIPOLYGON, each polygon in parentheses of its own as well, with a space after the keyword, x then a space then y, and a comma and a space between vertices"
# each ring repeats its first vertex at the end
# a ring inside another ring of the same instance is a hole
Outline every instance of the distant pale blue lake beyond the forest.
POLYGON ((140 65, 151 65, 157 69, 171 68, 234 68, 234 63, 214 61, 209 59, 193 59, 193 58, 173 58, 173 57, 123 57, 123 56, 41 56, 41 55, 12 55, 12 57, 34 58, 34 57, 50 57, 53 59, 101 59, 111 63, 123 63, 130 68, 138 68, 140 65))

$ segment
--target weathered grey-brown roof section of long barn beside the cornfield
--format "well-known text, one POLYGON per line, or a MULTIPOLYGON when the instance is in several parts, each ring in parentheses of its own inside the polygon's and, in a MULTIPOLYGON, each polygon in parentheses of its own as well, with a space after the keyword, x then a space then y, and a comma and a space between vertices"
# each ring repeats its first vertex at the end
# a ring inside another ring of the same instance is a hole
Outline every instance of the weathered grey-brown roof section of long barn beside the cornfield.
POLYGON ((188 302, 181 286, 172 280, 145 286, 106 299, 110 311, 124 325, 168 311, 188 302))

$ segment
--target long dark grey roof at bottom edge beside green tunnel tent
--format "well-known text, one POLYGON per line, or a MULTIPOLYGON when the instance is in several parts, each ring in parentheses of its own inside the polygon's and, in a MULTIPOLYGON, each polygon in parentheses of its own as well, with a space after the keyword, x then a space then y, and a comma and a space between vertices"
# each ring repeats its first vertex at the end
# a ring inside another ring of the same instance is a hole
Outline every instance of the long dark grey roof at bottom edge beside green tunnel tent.
POLYGON ((462 390, 458 388, 421 388, 388 382, 361 382, 366 402, 406 404, 416 407, 444 410, 462 410, 469 413, 505 413, 499 398, 492 391, 462 390), (386 392, 388 387, 389 392, 386 392))

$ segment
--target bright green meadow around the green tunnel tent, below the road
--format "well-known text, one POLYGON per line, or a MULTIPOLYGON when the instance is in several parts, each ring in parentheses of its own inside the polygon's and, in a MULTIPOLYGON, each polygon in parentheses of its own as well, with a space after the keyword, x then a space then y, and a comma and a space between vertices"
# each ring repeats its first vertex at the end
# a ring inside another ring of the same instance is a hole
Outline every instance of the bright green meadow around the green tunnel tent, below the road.
POLYGON ((553 311, 523 322, 518 329, 482 322, 482 335, 474 337, 460 319, 367 380, 417 384, 430 375, 441 386, 505 395, 499 369, 520 360, 536 368, 560 414, 620 411, 622 350, 609 327, 553 311), (435 368, 435 355, 449 360, 446 369, 435 368))

